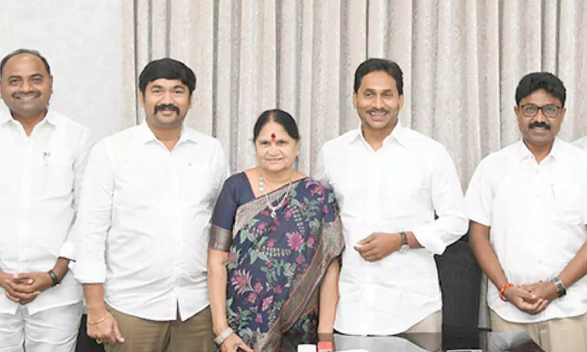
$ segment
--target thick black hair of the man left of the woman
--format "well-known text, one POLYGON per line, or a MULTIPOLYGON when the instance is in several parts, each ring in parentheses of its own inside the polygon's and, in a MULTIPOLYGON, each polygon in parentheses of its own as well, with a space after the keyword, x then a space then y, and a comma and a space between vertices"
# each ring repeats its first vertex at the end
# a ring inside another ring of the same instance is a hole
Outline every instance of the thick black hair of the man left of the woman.
POLYGON ((195 90, 195 74, 190 67, 171 57, 163 57, 147 63, 139 75, 140 91, 144 94, 147 84, 160 78, 180 80, 190 89, 190 94, 195 90))

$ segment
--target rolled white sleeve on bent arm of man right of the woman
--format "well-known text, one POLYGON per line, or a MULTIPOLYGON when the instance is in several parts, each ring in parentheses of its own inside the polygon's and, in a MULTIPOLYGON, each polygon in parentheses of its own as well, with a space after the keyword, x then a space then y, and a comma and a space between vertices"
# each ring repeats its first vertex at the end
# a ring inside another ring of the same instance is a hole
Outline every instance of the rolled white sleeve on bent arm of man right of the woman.
POLYGON ((468 230, 463 191, 454 162, 446 149, 434 155, 430 173, 432 204, 438 218, 413 229, 420 244, 434 254, 442 254, 468 230))

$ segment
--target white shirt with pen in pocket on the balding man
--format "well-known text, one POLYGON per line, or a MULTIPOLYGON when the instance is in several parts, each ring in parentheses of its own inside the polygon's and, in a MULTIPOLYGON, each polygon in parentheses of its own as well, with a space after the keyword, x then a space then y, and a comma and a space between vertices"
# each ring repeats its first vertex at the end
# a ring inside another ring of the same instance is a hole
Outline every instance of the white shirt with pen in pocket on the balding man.
MULTIPOLYGON (((9 113, 0 114, 0 269, 46 272, 59 257, 74 259, 77 199, 89 151, 86 128, 49 110, 26 136, 9 113)), ((19 303, 0 295, 0 313, 19 303)), ((28 303, 30 314, 82 300, 72 274, 28 303)))

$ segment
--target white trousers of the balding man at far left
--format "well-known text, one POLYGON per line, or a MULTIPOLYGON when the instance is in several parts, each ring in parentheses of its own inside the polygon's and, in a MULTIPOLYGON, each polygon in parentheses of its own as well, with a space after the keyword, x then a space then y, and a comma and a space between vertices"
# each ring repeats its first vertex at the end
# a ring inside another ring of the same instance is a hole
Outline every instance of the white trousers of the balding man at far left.
POLYGON ((0 313, 0 352, 74 352, 82 317, 82 302, 29 314, 0 313))

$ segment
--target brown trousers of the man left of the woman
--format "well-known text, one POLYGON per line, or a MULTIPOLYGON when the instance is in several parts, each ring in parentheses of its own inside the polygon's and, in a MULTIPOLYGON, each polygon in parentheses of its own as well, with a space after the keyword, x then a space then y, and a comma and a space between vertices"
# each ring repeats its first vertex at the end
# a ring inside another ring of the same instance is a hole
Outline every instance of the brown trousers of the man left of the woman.
POLYGON ((210 307, 188 320, 141 319, 107 307, 118 323, 124 343, 106 344, 106 352, 212 352, 214 333, 210 307))

